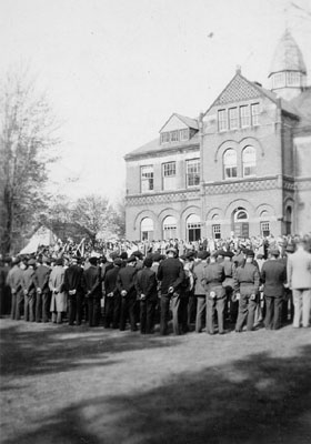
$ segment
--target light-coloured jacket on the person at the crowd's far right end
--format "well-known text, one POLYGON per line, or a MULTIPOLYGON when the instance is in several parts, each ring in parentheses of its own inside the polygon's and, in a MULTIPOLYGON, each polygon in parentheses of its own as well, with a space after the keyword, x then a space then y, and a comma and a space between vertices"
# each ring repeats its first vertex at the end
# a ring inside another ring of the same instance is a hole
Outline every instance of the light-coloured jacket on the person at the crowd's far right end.
POLYGON ((311 289, 311 254, 302 246, 288 258, 288 283, 290 289, 311 289))

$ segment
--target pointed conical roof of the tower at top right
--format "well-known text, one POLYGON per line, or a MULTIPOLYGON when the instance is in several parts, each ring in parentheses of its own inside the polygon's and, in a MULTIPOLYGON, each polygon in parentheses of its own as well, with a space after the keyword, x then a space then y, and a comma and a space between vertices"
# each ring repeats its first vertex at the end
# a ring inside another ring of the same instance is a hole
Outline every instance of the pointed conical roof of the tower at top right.
POLYGON ((305 63, 299 46, 287 30, 278 43, 271 63, 269 77, 275 72, 299 71, 307 74, 305 63))

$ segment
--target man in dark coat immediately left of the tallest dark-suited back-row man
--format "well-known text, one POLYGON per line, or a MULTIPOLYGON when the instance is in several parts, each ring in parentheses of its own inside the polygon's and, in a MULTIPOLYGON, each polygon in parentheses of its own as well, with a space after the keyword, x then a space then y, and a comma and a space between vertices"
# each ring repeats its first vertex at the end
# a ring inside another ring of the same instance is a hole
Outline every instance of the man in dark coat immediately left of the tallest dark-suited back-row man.
POLYGON ((152 259, 143 261, 144 268, 137 273, 136 286, 140 299, 140 332, 153 333, 154 311, 158 300, 158 281, 151 270, 152 259))

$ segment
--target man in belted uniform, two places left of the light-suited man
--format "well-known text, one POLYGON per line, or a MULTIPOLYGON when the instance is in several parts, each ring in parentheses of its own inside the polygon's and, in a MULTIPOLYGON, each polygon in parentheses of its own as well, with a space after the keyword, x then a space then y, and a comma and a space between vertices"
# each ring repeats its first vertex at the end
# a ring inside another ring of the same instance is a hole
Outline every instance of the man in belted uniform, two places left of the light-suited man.
POLYGON ((239 300, 239 315, 235 332, 241 332, 247 321, 247 330, 252 331, 257 307, 260 275, 259 269, 253 264, 254 252, 245 249, 245 263, 238 266, 234 272, 234 294, 239 300))

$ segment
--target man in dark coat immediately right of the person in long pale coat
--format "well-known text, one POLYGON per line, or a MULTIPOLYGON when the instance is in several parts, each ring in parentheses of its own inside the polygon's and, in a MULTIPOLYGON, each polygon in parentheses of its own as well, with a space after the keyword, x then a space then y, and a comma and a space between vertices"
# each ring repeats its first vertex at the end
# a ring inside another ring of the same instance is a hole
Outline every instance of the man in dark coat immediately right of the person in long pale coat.
POLYGON ((64 271, 63 291, 68 296, 68 317, 69 325, 81 325, 82 306, 83 306, 83 289, 82 278, 83 269, 78 264, 79 258, 71 259, 71 264, 64 271))

